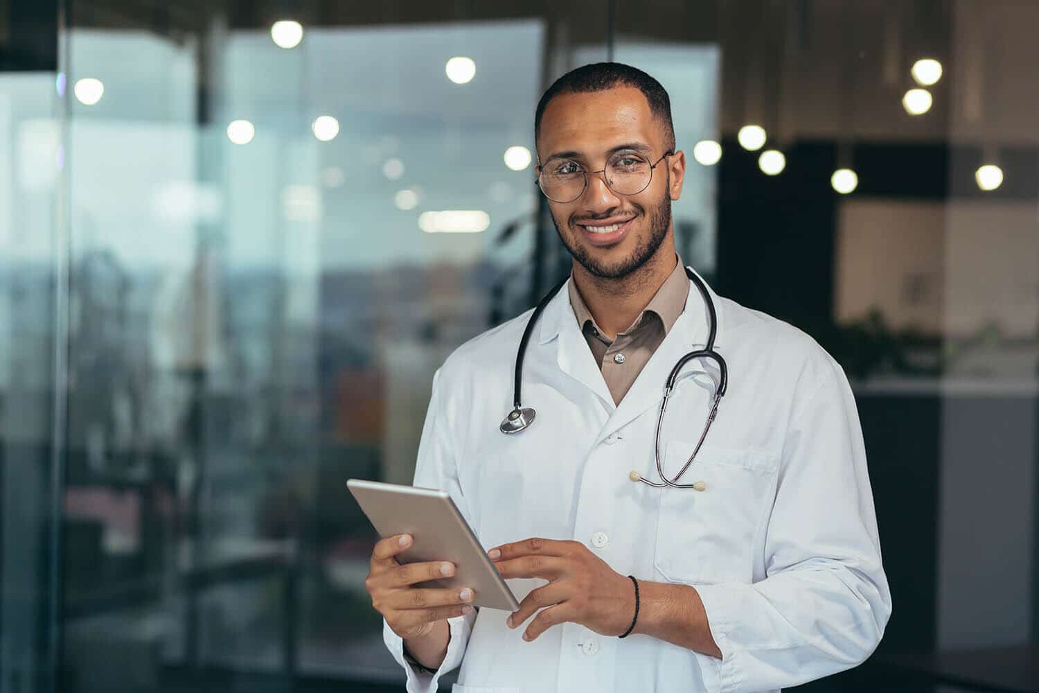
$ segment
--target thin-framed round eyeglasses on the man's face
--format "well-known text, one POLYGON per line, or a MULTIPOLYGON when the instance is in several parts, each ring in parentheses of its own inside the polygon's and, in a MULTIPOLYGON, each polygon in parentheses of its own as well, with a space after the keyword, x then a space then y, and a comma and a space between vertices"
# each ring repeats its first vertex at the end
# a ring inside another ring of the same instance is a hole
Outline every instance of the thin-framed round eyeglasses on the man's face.
POLYGON ((652 170, 674 152, 667 151, 649 163, 636 152, 617 152, 598 170, 585 170, 572 159, 550 159, 540 166, 534 183, 541 188, 544 196, 554 203, 571 203, 584 194, 588 187, 589 174, 603 174, 606 186, 619 195, 637 195, 649 187, 652 170))

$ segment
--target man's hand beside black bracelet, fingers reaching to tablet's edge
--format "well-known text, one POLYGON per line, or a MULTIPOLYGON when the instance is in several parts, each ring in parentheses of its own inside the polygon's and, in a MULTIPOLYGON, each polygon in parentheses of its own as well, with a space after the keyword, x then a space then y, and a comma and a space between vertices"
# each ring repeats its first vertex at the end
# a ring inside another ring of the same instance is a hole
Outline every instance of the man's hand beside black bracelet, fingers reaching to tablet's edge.
POLYGON ((620 635, 635 614, 635 586, 580 541, 531 538, 487 552, 503 578, 549 581, 520 603, 507 624, 516 628, 540 613, 524 633, 533 640, 556 623, 580 623, 601 635, 620 635), (497 552, 497 553, 496 553, 497 552))

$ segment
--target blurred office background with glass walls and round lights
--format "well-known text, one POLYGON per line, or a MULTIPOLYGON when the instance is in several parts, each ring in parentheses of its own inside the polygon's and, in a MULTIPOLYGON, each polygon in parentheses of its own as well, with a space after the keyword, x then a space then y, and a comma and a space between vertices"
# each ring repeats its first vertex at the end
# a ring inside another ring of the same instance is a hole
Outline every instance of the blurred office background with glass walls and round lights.
POLYGON ((894 615, 804 688, 1039 690, 1036 27, 0 0, 0 693, 400 689, 344 482, 409 482, 433 370, 567 270, 533 111, 608 58, 671 94, 684 259, 852 378, 894 615))

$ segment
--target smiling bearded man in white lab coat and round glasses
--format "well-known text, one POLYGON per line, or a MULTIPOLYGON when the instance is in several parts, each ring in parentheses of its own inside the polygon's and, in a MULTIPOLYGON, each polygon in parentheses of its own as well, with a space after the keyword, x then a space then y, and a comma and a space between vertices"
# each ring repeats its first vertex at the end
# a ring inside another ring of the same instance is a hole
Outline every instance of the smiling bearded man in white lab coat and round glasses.
MULTIPOLYGON (((574 257, 528 343, 537 419, 503 435, 530 314, 472 340, 433 377, 415 483, 448 490, 522 599, 417 584, 378 542, 367 587, 409 691, 459 664, 463 693, 761 691, 856 666, 890 614, 861 431, 840 366, 810 338, 710 292, 728 385, 710 359, 708 301, 675 255, 686 158, 664 88, 633 68, 580 68, 535 117, 538 181, 574 257), (644 186, 644 187, 640 187, 644 186), (629 471, 634 467, 632 479, 629 471), (658 480, 658 483, 659 480, 658 480)), ((709 291, 705 287, 703 291, 709 291)))

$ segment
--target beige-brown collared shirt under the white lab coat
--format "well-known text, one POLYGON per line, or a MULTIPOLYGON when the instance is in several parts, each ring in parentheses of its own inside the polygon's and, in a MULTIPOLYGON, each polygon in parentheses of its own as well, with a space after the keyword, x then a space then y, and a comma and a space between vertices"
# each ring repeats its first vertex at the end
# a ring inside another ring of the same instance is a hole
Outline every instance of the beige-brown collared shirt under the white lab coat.
POLYGON ((686 310, 689 298, 689 277, 686 275, 682 258, 677 259, 674 271, 664 279, 656 295, 635 319, 631 327, 617 334, 612 342, 603 335, 595 324, 588 306, 578 291, 570 275, 569 294, 574 315, 577 316, 581 332, 588 342, 592 356, 598 364, 613 396, 613 403, 619 404, 635 382, 642 369, 649 362, 657 347, 664 341, 668 330, 686 310))

